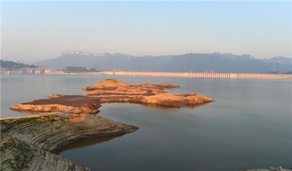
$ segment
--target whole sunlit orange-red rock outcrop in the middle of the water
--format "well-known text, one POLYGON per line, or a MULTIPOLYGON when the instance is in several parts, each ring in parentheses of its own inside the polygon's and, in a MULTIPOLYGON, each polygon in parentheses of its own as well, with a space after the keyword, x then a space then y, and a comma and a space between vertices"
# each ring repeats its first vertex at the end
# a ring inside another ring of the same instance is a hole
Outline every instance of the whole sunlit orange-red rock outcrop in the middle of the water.
POLYGON ((176 88, 178 85, 129 85, 122 81, 108 79, 93 86, 82 89, 91 91, 84 95, 52 94, 51 99, 35 100, 29 103, 20 103, 10 107, 12 110, 26 110, 37 112, 70 112, 70 113, 98 113, 99 103, 128 102, 142 104, 159 104, 170 107, 185 107, 198 105, 214 100, 200 94, 170 94, 163 90, 176 88))

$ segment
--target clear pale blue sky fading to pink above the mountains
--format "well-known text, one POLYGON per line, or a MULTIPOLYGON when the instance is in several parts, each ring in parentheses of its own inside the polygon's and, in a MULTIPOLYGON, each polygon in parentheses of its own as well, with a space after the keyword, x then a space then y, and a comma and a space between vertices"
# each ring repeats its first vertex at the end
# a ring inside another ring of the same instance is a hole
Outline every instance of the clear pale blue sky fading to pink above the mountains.
POLYGON ((1 1, 1 59, 62 51, 292 56, 291 1, 1 1))

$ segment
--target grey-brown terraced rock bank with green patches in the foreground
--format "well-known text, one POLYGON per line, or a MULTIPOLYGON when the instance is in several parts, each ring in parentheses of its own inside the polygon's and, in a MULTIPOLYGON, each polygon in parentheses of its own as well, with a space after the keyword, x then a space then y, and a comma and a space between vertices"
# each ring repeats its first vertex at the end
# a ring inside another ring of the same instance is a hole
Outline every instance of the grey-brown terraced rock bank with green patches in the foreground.
POLYGON ((1 169, 91 171, 56 154, 78 139, 123 135, 138 127, 91 114, 50 113, 1 119, 1 169))

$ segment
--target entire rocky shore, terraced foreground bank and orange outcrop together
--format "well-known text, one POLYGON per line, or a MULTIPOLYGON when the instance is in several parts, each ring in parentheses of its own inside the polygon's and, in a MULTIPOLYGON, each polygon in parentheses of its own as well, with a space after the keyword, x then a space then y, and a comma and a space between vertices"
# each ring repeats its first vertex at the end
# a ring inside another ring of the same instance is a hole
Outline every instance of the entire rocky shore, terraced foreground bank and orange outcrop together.
POLYGON ((186 107, 214 100, 200 94, 169 94, 178 85, 129 85, 108 79, 82 89, 84 95, 53 94, 50 99, 20 103, 12 110, 45 112, 7 117, 1 123, 1 171, 91 171, 56 155, 66 144, 92 137, 118 136, 138 127, 93 114, 100 103, 122 102, 186 107))

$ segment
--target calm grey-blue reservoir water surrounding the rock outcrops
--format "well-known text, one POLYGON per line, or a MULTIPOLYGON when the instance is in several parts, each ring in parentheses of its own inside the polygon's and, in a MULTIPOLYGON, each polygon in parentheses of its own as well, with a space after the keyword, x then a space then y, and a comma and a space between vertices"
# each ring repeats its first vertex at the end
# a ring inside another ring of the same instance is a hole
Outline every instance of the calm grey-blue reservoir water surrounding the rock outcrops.
POLYGON ((120 136, 85 139, 59 154, 105 171, 237 171, 292 167, 291 80, 100 75, 1 75, 1 117, 9 106, 51 94, 78 95, 104 79, 176 84, 169 93, 199 93, 216 102, 194 108, 102 104, 98 114, 136 125, 120 136))

